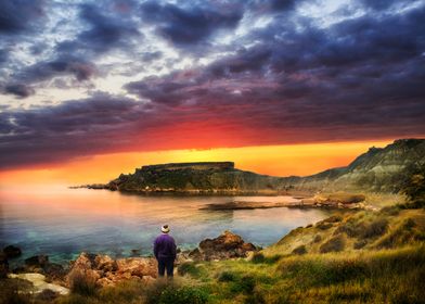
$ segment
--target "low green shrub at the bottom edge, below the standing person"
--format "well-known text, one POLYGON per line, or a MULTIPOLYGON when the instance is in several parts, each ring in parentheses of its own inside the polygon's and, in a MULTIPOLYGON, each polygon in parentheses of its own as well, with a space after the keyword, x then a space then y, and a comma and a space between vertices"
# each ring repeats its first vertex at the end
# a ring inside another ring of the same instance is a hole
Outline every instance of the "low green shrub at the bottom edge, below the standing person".
POLYGON ((203 304, 208 302, 208 293, 195 287, 176 288, 169 286, 159 296, 159 304, 203 304))

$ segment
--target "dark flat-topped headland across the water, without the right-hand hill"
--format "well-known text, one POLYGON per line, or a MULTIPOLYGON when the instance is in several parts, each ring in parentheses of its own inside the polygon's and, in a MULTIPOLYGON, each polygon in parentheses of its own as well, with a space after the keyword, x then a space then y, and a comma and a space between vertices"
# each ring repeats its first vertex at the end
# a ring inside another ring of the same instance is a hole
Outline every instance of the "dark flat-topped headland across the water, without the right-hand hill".
POLYGON ((232 162, 143 166, 120 175, 106 188, 136 192, 276 191, 281 178, 234 168, 232 162))

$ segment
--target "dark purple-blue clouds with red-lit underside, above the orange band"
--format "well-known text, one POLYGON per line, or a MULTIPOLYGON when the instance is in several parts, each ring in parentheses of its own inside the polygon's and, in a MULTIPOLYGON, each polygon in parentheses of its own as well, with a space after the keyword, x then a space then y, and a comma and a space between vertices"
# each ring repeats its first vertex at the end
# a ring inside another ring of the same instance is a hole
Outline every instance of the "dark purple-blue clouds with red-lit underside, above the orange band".
MULTIPOLYGON (((105 13, 81 5, 86 29, 56 46, 51 60, 16 72, 3 91, 27 98, 35 93, 31 84, 55 75, 79 81, 93 77, 93 56, 143 39, 133 21, 120 14, 131 14, 170 47, 198 56, 214 47, 217 35, 236 30, 244 16, 267 15, 271 22, 234 39, 227 46, 231 54, 208 65, 134 79, 125 86, 132 99, 98 92, 55 106, 4 111, 1 167, 108 151, 425 134, 424 4, 398 12, 411 2, 359 1, 363 15, 319 27, 297 15, 298 1, 118 2, 127 10, 105 13)), ((26 22, 0 16, 0 30, 8 35, 27 30, 26 22)), ((2 59, 8 61, 0 52, 0 64, 2 59)))

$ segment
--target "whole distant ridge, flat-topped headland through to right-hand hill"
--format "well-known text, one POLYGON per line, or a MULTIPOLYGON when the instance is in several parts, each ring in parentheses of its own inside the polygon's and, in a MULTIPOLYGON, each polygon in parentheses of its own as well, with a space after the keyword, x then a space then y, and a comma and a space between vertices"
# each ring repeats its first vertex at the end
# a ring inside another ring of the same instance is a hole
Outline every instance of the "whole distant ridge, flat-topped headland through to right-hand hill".
MULTIPOLYGON (((177 163, 143 166, 121 174, 106 188, 136 192, 283 193, 286 191, 362 190, 398 192, 402 182, 425 166, 425 140, 400 139, 371 148, 346 167, 306 177, 274 177, 241 170, 232 162, 177 163)), ((90 188, 90 187, 89 187, 90 188)))

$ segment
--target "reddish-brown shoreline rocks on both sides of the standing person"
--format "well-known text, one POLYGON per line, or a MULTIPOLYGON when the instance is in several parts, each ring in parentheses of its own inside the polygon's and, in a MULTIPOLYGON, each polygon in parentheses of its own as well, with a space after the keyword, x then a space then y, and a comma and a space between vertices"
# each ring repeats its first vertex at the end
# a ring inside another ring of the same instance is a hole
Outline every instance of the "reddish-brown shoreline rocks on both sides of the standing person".
MULTIPOLYGON (((254 244, 244 242, 240 236, 224 231, 215 239, 202 241, 198 248, 192 251, 179 252, 176 264, 245 258, 258 250, 254 244)), ((111 287, 126 280, 150 283, 157 277, 157 262, 154 257, 114 259, 108 255, 87 252, 82 252, 65 267, 50 263, 47 255, 38 255, 25 259, 25 264, 15 269, 9 269, 8 261, 21 254, 16 246, 4 248, 0 255, 0 275, 2 278, 29 281, 34 293, 49 290, 57 295, 67 294, 79 278, 85 278, 98 287, 111 287)))

